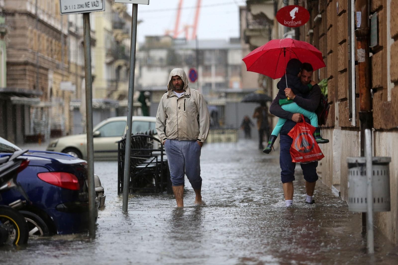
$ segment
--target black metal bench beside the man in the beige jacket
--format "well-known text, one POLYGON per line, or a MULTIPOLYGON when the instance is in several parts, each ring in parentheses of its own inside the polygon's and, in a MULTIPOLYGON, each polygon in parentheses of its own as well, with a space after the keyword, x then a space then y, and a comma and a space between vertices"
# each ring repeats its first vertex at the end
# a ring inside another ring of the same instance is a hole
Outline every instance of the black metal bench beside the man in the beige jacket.
MULTIPOLYGON (((126 138, 118 142, 117 193, 123 193, 126 138)), ((163 144, 150 134, 131 136, 129 193, 172 193, 163 144)))

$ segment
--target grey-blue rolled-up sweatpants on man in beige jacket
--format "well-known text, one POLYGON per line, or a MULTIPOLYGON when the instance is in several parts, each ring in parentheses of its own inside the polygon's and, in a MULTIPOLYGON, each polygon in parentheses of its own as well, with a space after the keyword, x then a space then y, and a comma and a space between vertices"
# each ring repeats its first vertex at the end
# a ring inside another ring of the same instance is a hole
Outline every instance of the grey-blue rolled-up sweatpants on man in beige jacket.
POLYGON ((187 175, 193 189, 201 189, 200 152, 196 141, 179 141, 167 139, 164 143, 173 186, 184 185, 184 174, 187 175))

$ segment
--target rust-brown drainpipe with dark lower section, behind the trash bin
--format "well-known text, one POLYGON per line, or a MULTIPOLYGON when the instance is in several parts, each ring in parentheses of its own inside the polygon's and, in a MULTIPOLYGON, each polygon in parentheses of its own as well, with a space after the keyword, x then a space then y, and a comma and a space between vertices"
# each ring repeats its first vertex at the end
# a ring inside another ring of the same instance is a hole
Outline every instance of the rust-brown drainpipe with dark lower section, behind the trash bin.
MULTIPOLYGON (((359 86, 359 127, 361 130, 361 156, 365 156, 365 129, 372 129, 371 86, 369 70, 369 4, 368 0, 355 1, 359 86)), ((353 99, 355 100, 355 99, 353 99)), ((366 214, 362 213, 362 225, 366 226, 366 214)))

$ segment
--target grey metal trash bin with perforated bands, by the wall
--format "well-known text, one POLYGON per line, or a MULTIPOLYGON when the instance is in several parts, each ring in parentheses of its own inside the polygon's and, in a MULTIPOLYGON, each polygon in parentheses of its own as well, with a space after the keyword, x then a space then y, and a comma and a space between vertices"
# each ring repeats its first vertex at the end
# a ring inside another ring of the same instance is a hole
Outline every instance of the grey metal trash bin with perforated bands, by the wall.
MULTIPOLYGON (((390 157, 372 158, 373 211, 390 211, 390 157)), ((348 157, 348 210, 367 212, 366 158, 348 157)))

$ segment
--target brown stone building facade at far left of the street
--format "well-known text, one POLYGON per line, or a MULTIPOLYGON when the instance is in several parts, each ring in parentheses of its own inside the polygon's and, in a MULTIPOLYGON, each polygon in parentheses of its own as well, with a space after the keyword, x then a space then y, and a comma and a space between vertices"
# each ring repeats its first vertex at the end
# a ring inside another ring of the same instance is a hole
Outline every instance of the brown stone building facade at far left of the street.
MULTIPOLYGON (((60 90, 68 78, 67 20, 60 16, 59 1, 4 0, 7 33, 6 89, 16 96, 39 96, 39 104, 20 97, 12 104, 3 134, 15 142, 49 137, 51 130, 68 131, 70 92, 60 90), (22 94, 20 93, 22 92, 22 94), (56 107, 55 107, 56 106, 56 107), (15 136, 13 136, 13 133, 15 136)), ((4 71, 3 71, 4 73, 4 71)), ((11 94, 10 94, 11 96, 11 94)), ((36 102, 36 101, 35 101, 36 102)))

